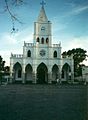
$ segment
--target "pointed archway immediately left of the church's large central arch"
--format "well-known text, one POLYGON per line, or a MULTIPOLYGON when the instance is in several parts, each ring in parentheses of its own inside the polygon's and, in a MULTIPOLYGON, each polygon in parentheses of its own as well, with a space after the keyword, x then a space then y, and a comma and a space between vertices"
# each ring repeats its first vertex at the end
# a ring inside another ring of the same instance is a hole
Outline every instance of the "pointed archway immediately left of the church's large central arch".
POLYGON ((26 83, 32 81, 32 66, 28 64, 25 68, 25 80, 26 83))

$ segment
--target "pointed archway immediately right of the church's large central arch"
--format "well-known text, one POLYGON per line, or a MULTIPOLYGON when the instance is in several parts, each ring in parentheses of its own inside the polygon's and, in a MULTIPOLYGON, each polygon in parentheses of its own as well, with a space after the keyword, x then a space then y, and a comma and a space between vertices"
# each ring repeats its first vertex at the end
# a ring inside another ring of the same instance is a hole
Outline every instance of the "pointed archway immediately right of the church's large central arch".
POLYGON ((59 68, 58 66, 55 64, 52 67, 52 80, 53 81, 57 81, 57 79, 59 78, 59 68))

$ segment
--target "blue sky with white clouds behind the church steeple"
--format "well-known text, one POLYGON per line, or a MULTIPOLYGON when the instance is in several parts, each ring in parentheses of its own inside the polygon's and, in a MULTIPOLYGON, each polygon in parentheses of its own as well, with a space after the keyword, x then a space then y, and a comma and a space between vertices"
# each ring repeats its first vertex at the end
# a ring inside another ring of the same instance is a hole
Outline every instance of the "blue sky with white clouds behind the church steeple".
MULTIPOLYGON (((10 0, 9 0, 10 1, 10 0)), ((23 44, 33 42, 34 22, 37 21, 41 0, 25 0, 21 6, 10 10, 23 23, 14 23, 8 12, 4 12, 4 0, 0 1, 0 55, 10 65, 10 56, 22 54, 23 44)), ((46 0, 45 11, 52 22, 52 42, 61 42, 62 52, 82 48, 88 54, 88 0, 46 0)), ((88 60, 84 61, 88 65, 88 60)))

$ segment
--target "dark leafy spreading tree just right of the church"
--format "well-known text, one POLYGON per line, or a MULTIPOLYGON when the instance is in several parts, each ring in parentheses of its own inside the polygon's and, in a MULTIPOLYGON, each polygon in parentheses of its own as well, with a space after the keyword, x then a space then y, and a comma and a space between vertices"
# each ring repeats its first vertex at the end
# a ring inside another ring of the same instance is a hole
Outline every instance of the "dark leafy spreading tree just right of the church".
POLYGON ((88 55, 86 53, 87 53, 87 51, 84 49, 81 49, 81 48, 68 50, 67 52, 65 51, 62 53, 63 58, 66 56, 69 57, 69 56, 73 55, 75 77, 82 75, 82 66, 84 66, 84 64, 81 64, 81 63, 84 60, 86 60, 86 57, 88 57, 88 55))

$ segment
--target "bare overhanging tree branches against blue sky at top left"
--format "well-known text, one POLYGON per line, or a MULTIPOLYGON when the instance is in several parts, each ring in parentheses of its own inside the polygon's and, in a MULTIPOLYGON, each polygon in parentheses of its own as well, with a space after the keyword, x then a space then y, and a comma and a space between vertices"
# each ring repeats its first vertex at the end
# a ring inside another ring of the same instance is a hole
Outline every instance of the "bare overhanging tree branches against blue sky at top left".
POLYGON ((18 18, 18 16, 16 16, 16 14, 14 13, 14 8, 20 5, 25 4, 24 0, 4 0, 4 8, 3 11, 0 13, 8 13, 10 16, 10 19, 12 21, 12 30, 11 32, 16 32, 18 29, 15 29, 15 21, 23 24, 23 22, 18 18))

